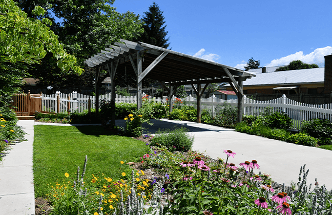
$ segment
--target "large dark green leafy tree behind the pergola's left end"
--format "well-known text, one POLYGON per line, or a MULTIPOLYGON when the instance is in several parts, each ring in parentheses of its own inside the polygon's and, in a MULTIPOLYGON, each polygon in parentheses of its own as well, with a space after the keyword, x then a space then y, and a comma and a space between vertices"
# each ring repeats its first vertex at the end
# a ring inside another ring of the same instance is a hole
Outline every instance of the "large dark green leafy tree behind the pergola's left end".
MULTIPOLYGON (((54 25, 54 32, 64 48, 83 61, 120 39, 134 40, 143 32, 143 22, 134 13, 119 13, 112 7, 114 0, 17 0, 23 10, 31 5, 43 5, 61 20, 54 25)), ((46 14, 50 17, 51 13, 46 14)), ((41 18, 41 17, 39 17, 41 18)), ((53 19, 54 21, 54 19, 53 19)), ((29 72, 44 85, 80 86, 92 82, 94 72, 81 77, 71 73, 59 75, 51 56, 46 56, 41 65, 29 72), (48 75, 44 75, 47 71, 48 75)))

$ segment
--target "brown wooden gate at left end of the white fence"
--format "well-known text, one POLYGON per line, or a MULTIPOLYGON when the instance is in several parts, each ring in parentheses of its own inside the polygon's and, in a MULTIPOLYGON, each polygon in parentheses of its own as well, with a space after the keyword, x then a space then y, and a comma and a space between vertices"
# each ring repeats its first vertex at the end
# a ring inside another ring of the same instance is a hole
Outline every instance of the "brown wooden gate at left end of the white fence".
POLYGON ((15 112, 27 113, 34 115, 35 111, 42 112, 42 98, 40 94, 14 94, 10 103, 15 112))

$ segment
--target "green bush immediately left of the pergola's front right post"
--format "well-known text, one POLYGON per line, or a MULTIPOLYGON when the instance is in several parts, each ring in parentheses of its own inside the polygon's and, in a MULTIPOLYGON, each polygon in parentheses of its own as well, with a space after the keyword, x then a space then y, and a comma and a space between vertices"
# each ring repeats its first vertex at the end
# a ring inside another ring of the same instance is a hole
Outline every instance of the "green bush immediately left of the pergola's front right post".
MULTIPOLYGON (((218 108, 216 108, 217 112, 218 108)), ((237 108, 224 104, 221 111, 217 112, 213 124, 220 127, 234 128, 237 121, 237 108)))

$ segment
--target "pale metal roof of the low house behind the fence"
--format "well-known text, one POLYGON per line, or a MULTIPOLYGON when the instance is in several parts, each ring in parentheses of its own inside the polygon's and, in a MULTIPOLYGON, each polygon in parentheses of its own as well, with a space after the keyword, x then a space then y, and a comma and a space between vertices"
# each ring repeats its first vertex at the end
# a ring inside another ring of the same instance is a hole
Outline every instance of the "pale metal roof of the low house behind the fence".
POLYGON ((243 82, 243 86, 291 85, 302 83, 324 83, 324 67, 256 73, 256 77, 243 82))

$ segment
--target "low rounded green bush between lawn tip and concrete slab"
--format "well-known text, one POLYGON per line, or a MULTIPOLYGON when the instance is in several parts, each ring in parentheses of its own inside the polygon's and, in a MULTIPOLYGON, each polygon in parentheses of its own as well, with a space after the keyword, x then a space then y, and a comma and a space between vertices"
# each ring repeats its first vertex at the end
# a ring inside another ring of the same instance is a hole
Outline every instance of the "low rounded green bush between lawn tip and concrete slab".
POLYGON ((169 151, 188 151, 194 142, 194 137, 187 133, 184 127, 158 130, 152 138, 152 146, 165 146, 169 151))

